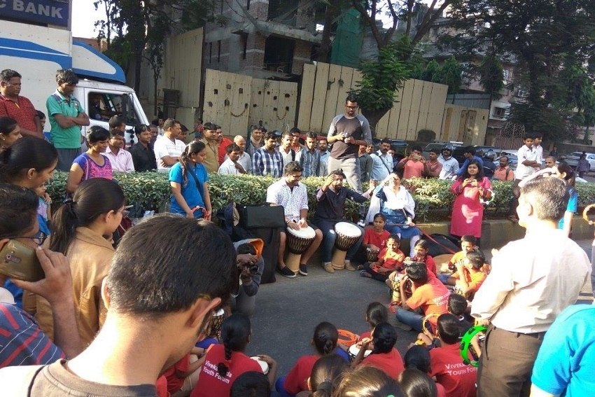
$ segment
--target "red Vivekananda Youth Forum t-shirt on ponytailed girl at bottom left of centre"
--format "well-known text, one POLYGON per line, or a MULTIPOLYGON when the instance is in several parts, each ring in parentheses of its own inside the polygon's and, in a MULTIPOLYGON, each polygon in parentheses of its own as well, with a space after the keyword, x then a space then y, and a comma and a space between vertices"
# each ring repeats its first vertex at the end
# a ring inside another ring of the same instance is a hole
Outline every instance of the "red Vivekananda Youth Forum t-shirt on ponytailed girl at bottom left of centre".
POLYGON ((239 375, 248 371, 262 373, 260 364, 246 354, 239 351, 232 352, 228 363, 228 373, 221 377, 217 372, 217 365, 225 361, 225 347, 223 344, 214 344, 207 351, 204 364, 190 397, 229 396, 232 384, 239 375))

